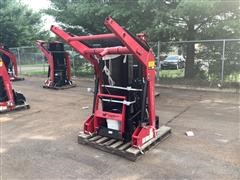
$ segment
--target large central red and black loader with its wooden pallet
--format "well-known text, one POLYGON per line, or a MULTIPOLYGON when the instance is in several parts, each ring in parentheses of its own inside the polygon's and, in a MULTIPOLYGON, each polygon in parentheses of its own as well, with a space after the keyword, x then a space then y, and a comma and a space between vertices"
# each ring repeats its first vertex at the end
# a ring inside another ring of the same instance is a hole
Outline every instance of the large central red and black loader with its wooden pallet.
POLYGON ((132 35, 111 17, 104 24, 112 33, 74 36, 55 26, 51 31, 94 67, 92 115, 78 143, 135 161, 171 133, 156 116, 155 57, 144 34, 132 35))

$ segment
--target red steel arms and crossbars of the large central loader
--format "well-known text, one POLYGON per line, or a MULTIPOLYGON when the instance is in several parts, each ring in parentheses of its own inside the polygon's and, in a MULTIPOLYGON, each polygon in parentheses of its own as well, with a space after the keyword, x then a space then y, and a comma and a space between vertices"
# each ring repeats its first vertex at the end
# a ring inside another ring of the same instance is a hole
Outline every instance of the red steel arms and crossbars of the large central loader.
MULTIPOLYGON (((123 29, 111 17, 105 19, 105 26, 112 34, 100 34, 90 36, 72 36, 62 29, 52 26, 51 31, 68 43, 73 49, 84 56, 94 67, 97 78, 97 89, 102 94, 102 75, 99 69, 99 59, 110 54, 132 54, 144 66, 144 79, 147 82, 147 104, 149 113, 148 125, 139 126, 132 135, 132 146, 139 148, 147 141, 156 137, 156 111, 155 111, 155 57, 153 51, 146 50, 136 39, 132 37, 125 29, 123 29), (119 39, 123 46, 107 47, 107 48, 89 48, 81 42, 81 40, 98 40, 98 39, 119 39)), ((143 35, 137 36, 139 41, 145 42, 143 35)), ((95 106, 98 99, 95 101, 95 106)), ((109 113, 106 114, 111 115, 109 113)), ((123 115, 123 114, 122 114, 123 115)), ((84 133, 92 134, 96 132, 98 124, 96 123, 96 107, 93 114, 84 123, 84 133)))

